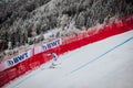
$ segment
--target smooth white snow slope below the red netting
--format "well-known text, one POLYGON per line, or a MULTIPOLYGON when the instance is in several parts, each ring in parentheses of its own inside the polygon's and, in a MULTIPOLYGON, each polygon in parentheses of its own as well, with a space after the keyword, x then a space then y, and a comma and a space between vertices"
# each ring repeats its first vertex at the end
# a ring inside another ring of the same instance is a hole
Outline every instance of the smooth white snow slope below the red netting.
POLYGON ((55 69, 43 69, 44 64, 4 88, 133 88, 133 30, 69 52, 58 63, 55 69))

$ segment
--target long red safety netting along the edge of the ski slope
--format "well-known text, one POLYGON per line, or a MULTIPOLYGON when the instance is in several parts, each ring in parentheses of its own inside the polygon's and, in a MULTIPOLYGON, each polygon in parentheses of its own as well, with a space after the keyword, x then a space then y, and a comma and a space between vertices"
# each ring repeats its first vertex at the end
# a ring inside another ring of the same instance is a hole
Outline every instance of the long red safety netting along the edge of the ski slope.
POLYGON ((106 38, 115 34, 130 31, 132 29, 133 29, 133 19, 130 19, 130 20, 125 19, 125 20, 121 20, 117 23, 115 22, 111 25, 106 24, 104 25, 103 29, 99 30, 99 32, 98 32, 98 29, 95 29, 93 31, 88 31, 88 32, 73 35, 72 37, 63 41, 63 43, 60 46, 39 53, 37 55, 33 55, 32 57, 17 64, 16 66, 8 68, 3 72, 0 72, 0 87, 22 76, 23 74, 35 69, 37 67, 44 64, 45 62, 49 62, 50 59, 52 59, 52 56, 49 55, 51 51, 57 53, 58 55, 62 55, 69 51, 73 51, 83 45, 106 38))

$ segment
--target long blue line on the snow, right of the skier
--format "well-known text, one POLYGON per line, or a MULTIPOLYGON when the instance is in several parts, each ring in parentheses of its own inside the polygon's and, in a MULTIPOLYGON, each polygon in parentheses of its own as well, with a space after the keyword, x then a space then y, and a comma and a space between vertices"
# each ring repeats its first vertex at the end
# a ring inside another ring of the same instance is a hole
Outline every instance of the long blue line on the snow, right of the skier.
POLYGON ((110 48, 110 50, 109 50, 109 51, 106 51, 105 53, 103 53, 103 54, 101 54, 100 56, 98 56, 98 57, 93 58, 92 61, 90 61, 90 62, 85 63, 84 65, 82 65, 82 66, 80 66, 80 67, 78 67, 78 68, 73 69, 70 74, 73 74, 73 73, 75 73, 75 72, 78 72, 78 70, 80 70, 80 69, 82 69, 83 67, 88 66, 89 64, 91 64, 91 63, 93 63, 93 62, 95 62, 95 61, 100 59, 101 57, 103 57, 103 56, 104 56, 104 55, 106 55, 108 53, 110 53, 110 52, 114 51, 115 48, 117 48, 117 47, 122 46, 123 44, 127 43, 127 42, 129 42, 129 41, 131 41, 131 40, 133 40, 133 36, 132 36, 132 37, 130 37, 130 38, 127 38, 127 40, 125 40, 124 42, 122 42, 122 43, 117 44, 116 46, 114 46, 114 47, 110 48))

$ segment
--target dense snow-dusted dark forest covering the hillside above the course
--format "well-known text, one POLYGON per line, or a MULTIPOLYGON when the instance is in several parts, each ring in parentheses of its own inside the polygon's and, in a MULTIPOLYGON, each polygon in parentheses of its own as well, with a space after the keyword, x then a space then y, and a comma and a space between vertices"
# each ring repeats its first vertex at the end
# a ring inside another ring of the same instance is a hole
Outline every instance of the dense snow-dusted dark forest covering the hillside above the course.
POLYGON ((82 29, 132 13, 133 0, 0 0, 0 51, 72 21, 82 29))

